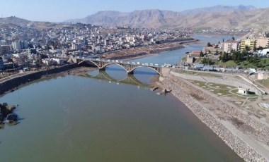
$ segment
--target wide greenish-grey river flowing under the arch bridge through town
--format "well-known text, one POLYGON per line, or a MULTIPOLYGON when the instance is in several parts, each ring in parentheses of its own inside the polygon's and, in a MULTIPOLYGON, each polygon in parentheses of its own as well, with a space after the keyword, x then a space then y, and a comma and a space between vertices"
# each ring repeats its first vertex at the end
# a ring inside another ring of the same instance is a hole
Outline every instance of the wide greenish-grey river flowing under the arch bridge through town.
MULTIPOLYGON (((135 61, 177 63, 212 39, 195 38, 202 43, 135 61)), ((126 77, 119 66, 105 74, 126 77)), ((145 84, 155 75, 135 70, 145 84)), ((66 75, 33 82, 1 102, 19 104, 20 118, 0 130, 1 161, 243 161, 174 96, 147 86, 66 75)))

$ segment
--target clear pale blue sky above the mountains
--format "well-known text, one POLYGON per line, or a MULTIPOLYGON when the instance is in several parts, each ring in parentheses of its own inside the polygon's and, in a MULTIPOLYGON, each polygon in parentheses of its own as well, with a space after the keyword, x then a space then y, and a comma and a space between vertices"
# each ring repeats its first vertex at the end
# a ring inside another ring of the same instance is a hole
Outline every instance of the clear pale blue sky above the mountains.
POLYGON ((268 8, 268 0, 0 0, 0 16, 59 22, 84 18, 98 11, 130 12, 144 9, 184 11, 215 5, 253 5, 268 8))

